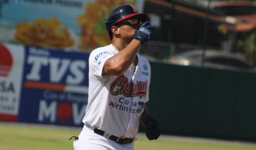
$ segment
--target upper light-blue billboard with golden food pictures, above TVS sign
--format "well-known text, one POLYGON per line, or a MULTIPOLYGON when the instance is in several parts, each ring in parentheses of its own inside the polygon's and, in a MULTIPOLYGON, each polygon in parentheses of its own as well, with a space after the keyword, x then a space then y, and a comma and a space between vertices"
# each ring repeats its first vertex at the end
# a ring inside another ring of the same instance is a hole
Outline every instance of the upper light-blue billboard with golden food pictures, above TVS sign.
POLYGON ((0 42, 90 52, 110 44, 105 18, 127 3, 142 1, 0 0, 0 42))

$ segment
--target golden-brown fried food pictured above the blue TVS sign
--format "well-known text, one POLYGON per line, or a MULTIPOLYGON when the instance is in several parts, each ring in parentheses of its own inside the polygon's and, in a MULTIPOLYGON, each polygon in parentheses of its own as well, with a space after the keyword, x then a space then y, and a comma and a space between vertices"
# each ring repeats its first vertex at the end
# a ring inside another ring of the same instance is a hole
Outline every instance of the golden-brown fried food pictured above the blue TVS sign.
POLYGON ((15 39, 26 45, 70 47, 74 40, 67 27, 57 18, 38 18, 33 23, 20 21, 16 25, 15 39))

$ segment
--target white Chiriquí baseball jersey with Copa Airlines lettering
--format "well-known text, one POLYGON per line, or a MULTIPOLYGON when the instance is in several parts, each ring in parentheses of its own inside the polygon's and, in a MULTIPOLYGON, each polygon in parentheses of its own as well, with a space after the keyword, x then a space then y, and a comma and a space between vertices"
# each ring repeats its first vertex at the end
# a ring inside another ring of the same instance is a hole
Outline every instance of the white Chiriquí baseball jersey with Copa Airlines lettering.
POLYGON ((112 44, 89 56, 88 104, 83 123, 118 137, 137 135, 139 119, 148 101, 151 77, 149 62, 139 54, 136 71, 130 66, 119 76, 102 76, 107 59, 117 54, 112 44))

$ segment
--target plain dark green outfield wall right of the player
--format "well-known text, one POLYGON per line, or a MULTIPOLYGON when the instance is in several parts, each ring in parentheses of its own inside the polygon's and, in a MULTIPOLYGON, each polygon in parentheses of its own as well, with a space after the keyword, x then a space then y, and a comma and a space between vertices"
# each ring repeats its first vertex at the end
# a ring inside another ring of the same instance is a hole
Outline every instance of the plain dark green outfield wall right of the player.
POLYGON ((147 107, 162 134, 256 140, 255 73, 150 63, 147 107))

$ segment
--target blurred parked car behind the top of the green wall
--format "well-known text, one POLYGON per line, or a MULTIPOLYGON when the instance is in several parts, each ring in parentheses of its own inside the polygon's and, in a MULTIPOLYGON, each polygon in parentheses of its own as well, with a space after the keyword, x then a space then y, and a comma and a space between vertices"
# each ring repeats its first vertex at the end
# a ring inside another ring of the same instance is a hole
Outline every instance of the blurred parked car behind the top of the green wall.
POLYGON ((207 49, 204 51, 203 59, 202 54, 202 49, 189 50, 187 52, 183 52, 179 55, 173 56, 165 61, 168 63, 180 65, 204 66, 236 71, 251 72, 254 70, 252 65, 245 59, 245 56, 242 54, 233 54, 211 49, 207 49))

